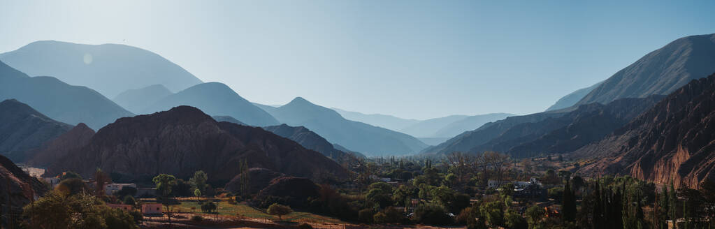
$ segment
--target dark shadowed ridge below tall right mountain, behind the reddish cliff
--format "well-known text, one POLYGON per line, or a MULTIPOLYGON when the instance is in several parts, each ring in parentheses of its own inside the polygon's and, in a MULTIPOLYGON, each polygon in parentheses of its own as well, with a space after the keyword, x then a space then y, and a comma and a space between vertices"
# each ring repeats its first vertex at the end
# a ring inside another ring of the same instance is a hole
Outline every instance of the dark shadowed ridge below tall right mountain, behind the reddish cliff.
POLYGON ((607 105, 591 103, 578 106, 558 118, 522 123, 497 138, 470 149, 471 153, 500 151, 514 157, 538 153, 571 153, 604 136, 647 111, 664 96, 621 98, 607 105))

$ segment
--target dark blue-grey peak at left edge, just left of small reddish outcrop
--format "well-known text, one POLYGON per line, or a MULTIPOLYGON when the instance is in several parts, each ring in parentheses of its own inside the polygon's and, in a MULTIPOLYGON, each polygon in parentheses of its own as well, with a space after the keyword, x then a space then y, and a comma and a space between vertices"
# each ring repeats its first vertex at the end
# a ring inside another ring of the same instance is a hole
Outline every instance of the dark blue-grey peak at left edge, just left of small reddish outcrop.
POLYGON ((0 102, 0 154, 24 162, 26 151, 57 138, 72 126, 54 121, 14 99, 0 102))

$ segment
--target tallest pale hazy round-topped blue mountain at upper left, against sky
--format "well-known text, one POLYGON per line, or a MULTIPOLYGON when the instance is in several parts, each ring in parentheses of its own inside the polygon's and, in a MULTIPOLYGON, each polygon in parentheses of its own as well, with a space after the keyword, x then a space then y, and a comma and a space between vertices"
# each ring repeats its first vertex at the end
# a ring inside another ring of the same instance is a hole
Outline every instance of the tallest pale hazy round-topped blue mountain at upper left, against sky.
POLYGON ((93 88, 109 98, 154 84, 181 91, 202 83, 162 56, 122 44, 36 41, 0 54, 0 60, 30 76, 55 76, 71 85, 93 88))

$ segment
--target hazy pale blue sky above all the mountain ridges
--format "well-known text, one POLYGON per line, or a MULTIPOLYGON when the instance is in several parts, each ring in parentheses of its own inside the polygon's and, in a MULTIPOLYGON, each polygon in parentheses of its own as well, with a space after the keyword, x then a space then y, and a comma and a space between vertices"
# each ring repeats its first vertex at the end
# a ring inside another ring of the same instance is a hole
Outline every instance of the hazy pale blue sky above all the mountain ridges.
POLYGON ((681 36, 715 1, 4 1, 0 52, 127 44, 257 103, 404 118, 543 111, 681 36))

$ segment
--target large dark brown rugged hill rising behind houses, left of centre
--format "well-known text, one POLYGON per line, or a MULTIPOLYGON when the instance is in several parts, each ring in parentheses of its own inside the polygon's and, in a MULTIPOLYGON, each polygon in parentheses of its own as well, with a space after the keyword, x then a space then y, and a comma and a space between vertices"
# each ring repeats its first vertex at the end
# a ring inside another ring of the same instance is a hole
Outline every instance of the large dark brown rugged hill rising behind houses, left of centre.
POLYGON ((239 164, 301 177, 345 178, 335 161, 262 128, 216 122, 197 108, 178 106, 151 115, 120 118, 97 131, 87 145, 48 168, 49 174, 95 168, 129 177, 168 173, 187 178, 202 170, 228 181, 239 164))

